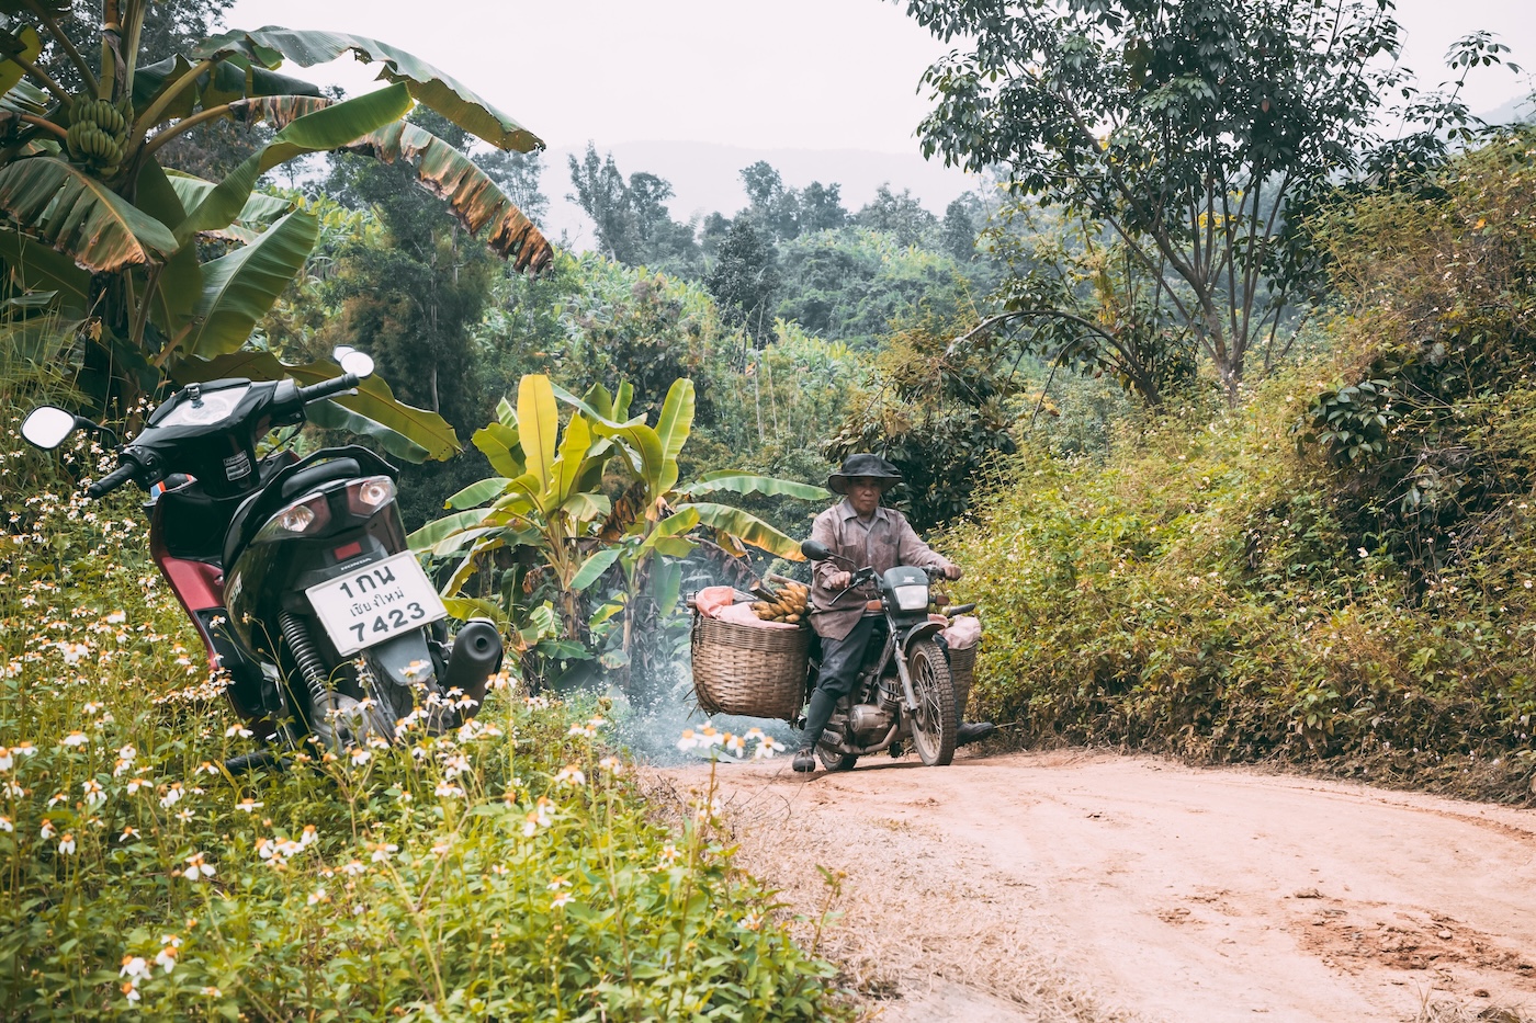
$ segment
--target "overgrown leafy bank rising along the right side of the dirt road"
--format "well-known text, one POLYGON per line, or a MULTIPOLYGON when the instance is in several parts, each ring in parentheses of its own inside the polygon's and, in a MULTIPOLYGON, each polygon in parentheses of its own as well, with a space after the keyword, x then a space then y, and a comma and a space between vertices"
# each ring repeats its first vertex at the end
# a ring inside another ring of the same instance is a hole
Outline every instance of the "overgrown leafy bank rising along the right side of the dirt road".
POLYGON ((1530 132, 1313 230, 1322 353, 995 467, 954 530, 1023 742, 1279 757, 1501 799, 1536 773, 1530 132))

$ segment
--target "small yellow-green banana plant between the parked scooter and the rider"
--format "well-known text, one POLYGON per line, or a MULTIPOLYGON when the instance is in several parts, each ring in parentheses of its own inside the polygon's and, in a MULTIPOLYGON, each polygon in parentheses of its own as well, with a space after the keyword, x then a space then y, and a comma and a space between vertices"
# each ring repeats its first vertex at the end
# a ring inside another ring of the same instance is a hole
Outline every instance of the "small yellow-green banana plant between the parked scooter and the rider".
MULTIPOLYGON (((628 418, 633 390, 617 393, 601 384, 584 396, 556 387, 547 376, 524 376, 518 404, 502 399, 498 421, 475 433, 475 445, 501 473, 475 482, 447 501, 450 515, 412 535, 412 547, 456 559, 442 587, 449 601, 479 570, 487 555, 522 545, 538 551, 553 576, 553 594, 564 628, 578 639, 585 627, 625 611, 622 642, 604 662, 624 667, 633 648, 639 598, 651 596, 659 616, 670 616, 682 587, 679 559, 697 548, 697 530, 711 530, 717 544, 745 553, 743 545, 800 559, 797 542, 768 522, 725 504, 700 501, 713 492, 786 495, 825 499, 820 487, 734 470, 680 482, 677 462, 693 430, 694 387, 677 379, 667 392, 656 425, 628 418), (570 407, 564 436, 558 404, 570 407), (617 501, 604 492, 604 470, 617 462, 627 485, 617 501), (624 587, 582 621, 584 594, 610 570, 624 587)), ((504 587, 501 614, 511 616, 518 587, 504 587)), ((482 610, 465 605, 465 610, 482 610)))

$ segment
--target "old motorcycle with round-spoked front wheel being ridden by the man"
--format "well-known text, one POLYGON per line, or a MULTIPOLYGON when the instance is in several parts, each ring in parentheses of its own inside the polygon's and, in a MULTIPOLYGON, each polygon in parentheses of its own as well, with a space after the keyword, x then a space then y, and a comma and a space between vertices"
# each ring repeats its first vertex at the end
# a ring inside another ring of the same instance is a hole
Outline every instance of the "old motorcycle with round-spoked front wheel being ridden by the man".
MULTIPOLYGON (((811 561, 837 561, 856 567, 816 541, 800 544, 811 561)), ((828 771, 846 771, 859 757, 912 740, 917 756, 928 766, 943 766, 954 759, 962 708, 955 707, 949 659, 938 644, 943 622, 929 617, 929 587, 938 568, 897 565, 877 576, 874 568, 857 568, 846 590, 874 581, 880 593, 869 610, 883 617, 865 651, 859 680, 837 702, 833 717, 816 747, 828 771)), ((846 591, 845 590, 845 591, 846 591)), ((954 617, 974 610, 974 604, 946 607, 954 617)), ((806 677, 806 699, 816 688, 820 665, 813 659, 806 677)))

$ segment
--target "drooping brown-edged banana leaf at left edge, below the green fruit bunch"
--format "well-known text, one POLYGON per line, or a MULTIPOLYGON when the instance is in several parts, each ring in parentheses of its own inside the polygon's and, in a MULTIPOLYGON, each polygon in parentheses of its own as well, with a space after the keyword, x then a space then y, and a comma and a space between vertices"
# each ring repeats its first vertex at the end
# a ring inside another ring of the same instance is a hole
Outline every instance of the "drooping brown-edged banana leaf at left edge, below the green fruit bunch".
POLYGON ((0 167, 0 209, 26 224, 28 233, 97 273, 161 263, 180 247, 169 227, 55 157, 0 167))

